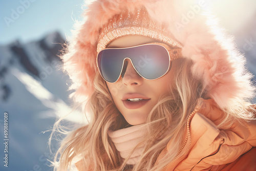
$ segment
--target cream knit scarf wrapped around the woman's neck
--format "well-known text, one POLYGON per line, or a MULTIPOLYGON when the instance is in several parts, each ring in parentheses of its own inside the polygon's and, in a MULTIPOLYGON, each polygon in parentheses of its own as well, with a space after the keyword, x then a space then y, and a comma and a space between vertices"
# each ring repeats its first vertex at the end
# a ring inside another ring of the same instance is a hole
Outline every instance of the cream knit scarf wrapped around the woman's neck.
MULTIPOLYGON (((143 136, 145 136, 145 133, 145 125, 141 124, 127 127, 125 129, 117 130, 114 132, 109 131, 108 134, 111 140, 114 142, 116 149, 120 153, 120 156, 123 159, 126 159, 132 153, 133 149, 137 146, 137 144, 141 142, 143 136)), ((136 164, 142 154, 143 148, 143 145, 137 148, 127 161, 127 164, 136 164)))

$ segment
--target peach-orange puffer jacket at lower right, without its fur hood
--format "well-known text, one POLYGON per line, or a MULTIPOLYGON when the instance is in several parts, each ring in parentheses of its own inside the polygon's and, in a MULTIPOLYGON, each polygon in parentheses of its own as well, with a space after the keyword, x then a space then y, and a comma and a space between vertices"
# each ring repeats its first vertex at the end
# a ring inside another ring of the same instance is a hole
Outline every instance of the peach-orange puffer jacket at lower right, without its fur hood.
MULTIPOLYGON (((256 170, 256 120, 218 125, 223 112, 212 99, 198 99, 187 119, 184 143, 177 157, 163 170, 256 170), (225 128, 224 128, 225 127, 225 128)), ((159 155, 160 160, 169 147, 159 155)))

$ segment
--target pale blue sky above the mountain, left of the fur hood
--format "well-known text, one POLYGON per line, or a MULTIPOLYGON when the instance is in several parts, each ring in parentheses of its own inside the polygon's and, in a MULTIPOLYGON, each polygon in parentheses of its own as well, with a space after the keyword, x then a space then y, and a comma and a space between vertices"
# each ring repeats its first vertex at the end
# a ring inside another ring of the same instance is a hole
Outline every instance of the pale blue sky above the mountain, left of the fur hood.
POLYGON ((1 0, 0 45, 15 39, 22 42, 36 40, 55 30, 60 31, 63 37, 65 34, 69 36, 73 19, 81 18, 82 4, 83 0, 1 0), (21 2, 30 4, 22 5, 21 2), (13 10, 20 13, 18 17, 13 10), (16 18, 8 23, 7 17, 16 18))

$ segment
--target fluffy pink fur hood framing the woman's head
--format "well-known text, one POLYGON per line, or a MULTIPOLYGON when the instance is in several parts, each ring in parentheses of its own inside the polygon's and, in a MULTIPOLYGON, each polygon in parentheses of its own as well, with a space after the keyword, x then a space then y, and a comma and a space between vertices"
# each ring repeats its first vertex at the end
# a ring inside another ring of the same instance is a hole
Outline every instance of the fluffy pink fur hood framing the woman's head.
POLYGON ((244 68, 244 57, 205 11, 205 1, 193 0, 100 0, 86 3, 80 23, 74 25, 62 56, 75 89, 74 97, 84 100, 93 92, 97 71, 96 48, 99 30, 122 10, 144 7, 155 22, 167 29, 183 46, 183 57, 193 60, 191 72, 201 79, 208 96, 223 109, 237 99, 250 99, 254 88, 244 68))

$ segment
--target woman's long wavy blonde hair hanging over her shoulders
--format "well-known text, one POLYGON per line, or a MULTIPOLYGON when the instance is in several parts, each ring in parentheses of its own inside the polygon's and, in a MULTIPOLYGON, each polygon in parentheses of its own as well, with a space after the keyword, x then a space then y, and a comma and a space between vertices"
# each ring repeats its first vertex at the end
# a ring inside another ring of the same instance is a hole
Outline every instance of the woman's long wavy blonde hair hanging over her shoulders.
MULTIPOLYGON (((109 130, 118 130, 128 123, 117 110, 105 81, 97 72, 94 87, 95 91, 90 97, 87 108, 90 109, 91 120, 72 131, 62 140, 55 155, 54 163, 58 162, 54 170, 68 170, 75 156, 81 155, 80 164, 83 170, 161 170, 178 154, 182 145, 183 132, 188 115, 193 112, 197 99, 207 98, 206 90, 202 88, 202 82, 191 75, 192 61, 181 58, 182 66, 175 72, 174 82, 170 85, 170 93, 161 97, 147 117, 147 136, 143 143, 143 155, 134 166, 126 164, 122 160, 114 143, 108 136, 109 130), (171 89, 171 87, 173 87, 171 89), (174 90, 174 91, 171 91, 174 90), (156 159, 166 146, 168 141, 177 142, 172 146, 168 156, 164 157, 157 165, 156 159)), ((226 110, 224 122, 234 119, 251 119, 252 113, 248 112, 249 103, 237 102, 237 110, 226 110)), ((54 130, 59 126, 55 123, 54 130)), ((51 137, 53 136, 53 133, 51 137)), ((137 145, 137 147, 140 144, 137 145)))

